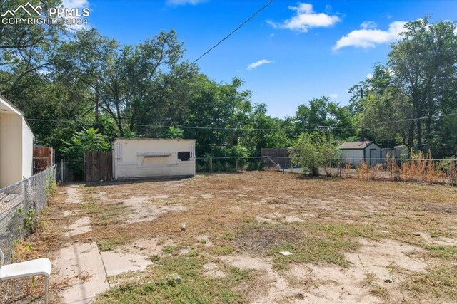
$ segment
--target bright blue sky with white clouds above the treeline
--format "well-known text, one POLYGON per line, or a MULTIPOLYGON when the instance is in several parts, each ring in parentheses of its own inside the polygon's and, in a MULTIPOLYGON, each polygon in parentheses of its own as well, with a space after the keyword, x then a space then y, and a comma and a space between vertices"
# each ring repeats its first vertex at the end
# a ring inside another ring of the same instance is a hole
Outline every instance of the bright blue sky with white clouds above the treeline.
MULTIPOLYGON (((67 0, 76 2, 76 0, 67 0)), ((266 0, 82 1, 101 34, 135 44, 174 29, 194 61, 266 0)), ((199 61, 217 81, 245 81, 253 103, 274 117, 293 115, 311 98, 348 103, 348 88, 385 63, 404 21, 457 20, 456 1, 281 1, 199 61), (263 63, 263 64, 261 64, 263 63), (249 65, 251 67, 249 68, 249 65)))

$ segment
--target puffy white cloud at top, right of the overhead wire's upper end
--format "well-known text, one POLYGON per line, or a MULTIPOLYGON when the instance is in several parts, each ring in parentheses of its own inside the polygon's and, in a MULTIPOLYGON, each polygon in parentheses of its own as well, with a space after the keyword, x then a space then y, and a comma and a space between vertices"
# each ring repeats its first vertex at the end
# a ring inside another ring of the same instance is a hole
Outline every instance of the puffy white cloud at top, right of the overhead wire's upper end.
POLYGON ((306 33, 309 28, 326 28, 341 21, 340 17, 336 15, 331 16, 326 13, 316 13, 313 11, 312 4, 298 2, 297 6, 289 6, 288 9, 296 11, 296 16, 281 23, 271 20, 267 20, 266 23, 273 26, 273 28, 284 28, 306 33))

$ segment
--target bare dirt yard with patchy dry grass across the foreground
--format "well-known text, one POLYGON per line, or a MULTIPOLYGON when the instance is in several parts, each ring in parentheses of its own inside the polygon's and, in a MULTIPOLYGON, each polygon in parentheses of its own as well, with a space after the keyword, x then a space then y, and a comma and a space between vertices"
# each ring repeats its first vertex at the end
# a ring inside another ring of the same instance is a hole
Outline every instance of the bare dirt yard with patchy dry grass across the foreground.
POLYGON ((268 171, 80 184, 43 222, 24 256, 53 261, 55 303, 88 282, 106 290, 95 303, 457 302, 456 187, 268 171))

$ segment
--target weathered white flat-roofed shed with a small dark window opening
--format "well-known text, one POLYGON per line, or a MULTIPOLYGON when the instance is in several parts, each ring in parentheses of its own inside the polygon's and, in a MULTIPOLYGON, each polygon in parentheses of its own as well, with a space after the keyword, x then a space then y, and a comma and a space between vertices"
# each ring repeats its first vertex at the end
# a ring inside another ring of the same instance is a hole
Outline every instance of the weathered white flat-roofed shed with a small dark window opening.
POLYGON ((193 177, 195 140, 116 138, 114 179, 193 177))

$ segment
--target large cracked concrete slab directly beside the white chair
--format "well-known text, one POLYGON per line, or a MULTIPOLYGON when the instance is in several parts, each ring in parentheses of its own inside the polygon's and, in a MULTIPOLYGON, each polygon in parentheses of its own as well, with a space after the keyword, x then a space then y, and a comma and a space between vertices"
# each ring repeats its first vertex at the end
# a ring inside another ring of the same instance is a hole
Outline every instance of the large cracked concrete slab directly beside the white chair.
MULTIPOLYGON (((59 258, 53 263, 53 272, 59 274, 58 281, 71 278, 87 271, 89 276, 84 281, 61 292, 61 303, 91 303, 96 295, 109 289, 106 272, 96 243, 74 244, 62 248, 59 258)), ((74 281, 71 281, 74 282, 74 281)))

